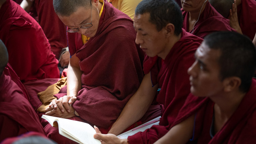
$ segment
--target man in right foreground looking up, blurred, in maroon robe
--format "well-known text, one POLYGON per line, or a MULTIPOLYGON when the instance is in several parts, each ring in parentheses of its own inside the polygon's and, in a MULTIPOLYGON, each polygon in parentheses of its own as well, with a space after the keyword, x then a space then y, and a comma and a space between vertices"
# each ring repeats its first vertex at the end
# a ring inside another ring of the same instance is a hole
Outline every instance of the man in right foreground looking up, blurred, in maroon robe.
POLYGON ((256 141, 256 50, 233 32, 205 37, 188 69, 191 95, 156 144, 244 144, 256 141), (195 95, 195 96, 194 96, 195 95))

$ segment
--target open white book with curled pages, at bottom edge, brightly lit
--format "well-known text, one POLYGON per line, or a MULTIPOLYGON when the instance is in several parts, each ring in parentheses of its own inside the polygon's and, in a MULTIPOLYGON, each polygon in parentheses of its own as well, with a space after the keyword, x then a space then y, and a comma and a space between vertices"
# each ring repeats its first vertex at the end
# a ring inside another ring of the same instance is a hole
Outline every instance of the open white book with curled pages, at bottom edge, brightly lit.
POLYGON ((69 119, 57 118, 54 116, 42 115, 52 126, 59 127, 59 134, 80 144, 101 144, 94 139, 95 129, 87 123, 69 119))

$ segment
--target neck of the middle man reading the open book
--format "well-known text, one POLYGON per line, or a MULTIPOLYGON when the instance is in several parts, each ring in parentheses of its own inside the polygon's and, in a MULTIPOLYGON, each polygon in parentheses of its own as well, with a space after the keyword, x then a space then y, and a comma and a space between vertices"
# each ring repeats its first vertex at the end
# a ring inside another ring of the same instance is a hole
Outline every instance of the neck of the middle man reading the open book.
POLYGON ((181 34, 179 34, 178 36, 174 35, 174 36, 168 37, 168 40, 167 40, 168 42, 166 43, 165 49, 163 50, 163 52, 159 53, 158 56, 164 60, 166 56, 169 54, 169 52, 171 51, 174 44, 178 42, 180 39, 181 39, 181 34))

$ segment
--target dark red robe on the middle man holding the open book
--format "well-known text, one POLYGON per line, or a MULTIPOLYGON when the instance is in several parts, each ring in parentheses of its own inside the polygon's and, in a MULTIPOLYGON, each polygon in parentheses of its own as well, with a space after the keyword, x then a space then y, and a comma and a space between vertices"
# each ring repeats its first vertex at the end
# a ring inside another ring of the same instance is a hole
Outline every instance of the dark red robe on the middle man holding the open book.
POLYGON ((143 71, 151 71, 152 84, 159 84, 157 102, 163 104, 164 111, 159 125, 128 137, 130 144, 151 144, 168 132, 190 93, 187 69, 195 61, 194 53, 201 42, 201 38, 183 29, 181 39, 174 44, 163 64, 160 57, 145 57, 143 71))

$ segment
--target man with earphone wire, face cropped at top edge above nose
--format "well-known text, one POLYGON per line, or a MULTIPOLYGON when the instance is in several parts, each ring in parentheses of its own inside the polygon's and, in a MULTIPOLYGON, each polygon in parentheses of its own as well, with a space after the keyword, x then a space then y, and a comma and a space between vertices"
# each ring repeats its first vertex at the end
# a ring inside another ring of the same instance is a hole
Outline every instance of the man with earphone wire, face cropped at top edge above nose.
POLYGON ((235 31, 229 20, 219 14, 208 0, 181 0, 183 29, 198 37, 216 31, 235 31))

